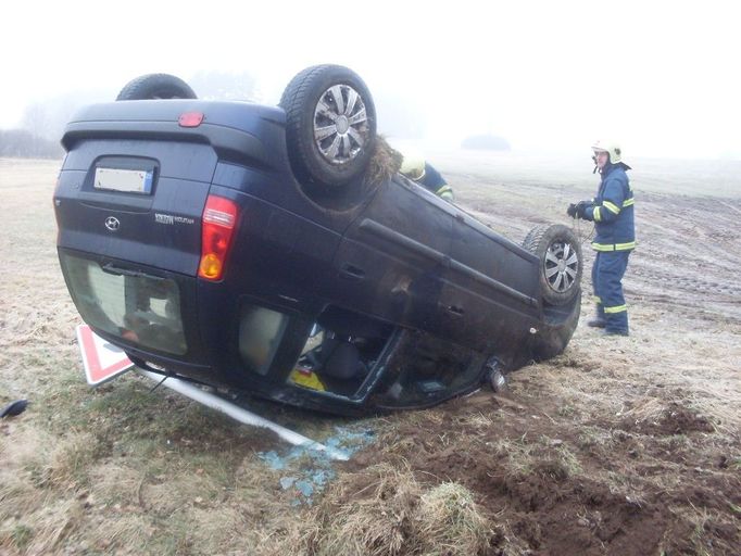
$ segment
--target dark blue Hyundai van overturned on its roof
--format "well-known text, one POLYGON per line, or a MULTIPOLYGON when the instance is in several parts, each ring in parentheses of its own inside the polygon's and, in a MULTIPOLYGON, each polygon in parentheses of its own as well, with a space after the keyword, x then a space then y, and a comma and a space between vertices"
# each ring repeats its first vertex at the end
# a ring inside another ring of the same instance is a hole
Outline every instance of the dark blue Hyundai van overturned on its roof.
POLYGON ((277 108, 143 76, 62 142, 67 288, 148 370, 360 415, 469 392, 576 328, 574 233, 515 244, 394 172, 348 68, 301 72, 277 108))

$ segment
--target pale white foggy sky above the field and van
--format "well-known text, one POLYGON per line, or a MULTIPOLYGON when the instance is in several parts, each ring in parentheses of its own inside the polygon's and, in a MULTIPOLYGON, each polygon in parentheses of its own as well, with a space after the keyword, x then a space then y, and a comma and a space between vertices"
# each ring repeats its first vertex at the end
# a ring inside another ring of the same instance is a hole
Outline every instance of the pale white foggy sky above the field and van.
POLYGON ((437 146, 493 132, 570 152, 612 137, 627 155, 741 159, 731 1, 28 0, 2 12, 0 128, 29 103, 115 96, 147 73, 247 71, 276 103, 303 67, 339 63, 419 112, 437 146))

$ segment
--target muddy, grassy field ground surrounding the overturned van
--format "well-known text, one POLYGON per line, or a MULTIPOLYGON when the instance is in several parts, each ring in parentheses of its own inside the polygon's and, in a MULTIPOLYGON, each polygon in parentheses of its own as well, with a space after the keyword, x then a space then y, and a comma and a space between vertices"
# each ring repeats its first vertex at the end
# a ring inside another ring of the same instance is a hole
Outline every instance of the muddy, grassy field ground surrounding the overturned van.
MULTIPOLYGON (((592 195, 588 165, 498 156, 438 165, 462 206, 516 241, 592 195)), ((53 248, 59 163, 0 161, 0 403, 33 402, 0 421, 0 554, 741 553, 741 199, 728 187, 741 164, 653 164, 633 172, 629 338, 582 318, 506 394, 424 412, 351 422, 267 406, 318 439, 338 425, 375 434, 310 504, 259 457, 285 451, 263 431, 136 376, 83 384, 53 248)), ((577 231, 587 244, 591 227, 577 231)))

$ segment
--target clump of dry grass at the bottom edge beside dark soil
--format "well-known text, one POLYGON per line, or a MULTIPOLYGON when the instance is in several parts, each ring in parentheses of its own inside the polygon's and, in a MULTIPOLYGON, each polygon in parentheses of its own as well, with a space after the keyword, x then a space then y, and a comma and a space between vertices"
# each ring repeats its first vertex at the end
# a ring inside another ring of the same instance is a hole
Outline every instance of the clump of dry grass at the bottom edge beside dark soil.
POLYGON ((492 535, 465 486, 428 488, 388 464, 343 476, 315 516, 310 547, 317 556, 476 555, 492 535))

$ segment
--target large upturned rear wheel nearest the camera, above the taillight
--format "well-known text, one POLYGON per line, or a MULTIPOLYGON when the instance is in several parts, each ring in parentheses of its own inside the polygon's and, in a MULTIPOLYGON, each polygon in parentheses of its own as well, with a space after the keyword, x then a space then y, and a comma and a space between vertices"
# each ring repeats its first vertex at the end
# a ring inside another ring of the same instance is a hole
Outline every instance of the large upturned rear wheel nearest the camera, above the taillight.
POLYGON ((376 140, 376 109, 353 71, 328 64, 307 67, 288 84, 280 108, 299 181, 339 189, 365 172, 376 140))

